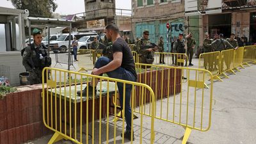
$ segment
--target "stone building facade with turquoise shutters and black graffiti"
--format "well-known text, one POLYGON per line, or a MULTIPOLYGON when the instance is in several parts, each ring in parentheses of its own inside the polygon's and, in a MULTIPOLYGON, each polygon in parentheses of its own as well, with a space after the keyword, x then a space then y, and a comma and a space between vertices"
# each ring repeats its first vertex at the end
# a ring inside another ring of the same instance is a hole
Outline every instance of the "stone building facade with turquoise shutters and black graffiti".
POLYGON ((141 37, 144 29, 150 31, 150 40, 154 43, 163 36, 164 51, 170 52, 170 38, 173 40, 179 33, 188 33, 188 19, 184 17, 184 0, 132 0, 134 36, 141 37), (166 29, 167 22, 171 26, 170 31, 166 29))

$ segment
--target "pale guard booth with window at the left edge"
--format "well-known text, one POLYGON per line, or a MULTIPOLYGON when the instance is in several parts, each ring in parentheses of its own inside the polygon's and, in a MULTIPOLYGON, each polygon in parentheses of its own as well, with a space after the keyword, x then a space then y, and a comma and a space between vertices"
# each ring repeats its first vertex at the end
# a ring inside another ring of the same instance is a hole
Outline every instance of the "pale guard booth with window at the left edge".
POLYGON ((0 7, 0 77, 10 80, 12 86, 19 85, 19 74, 24 72, 20 49, 25 46, 24 19, 28 10, 0 7))

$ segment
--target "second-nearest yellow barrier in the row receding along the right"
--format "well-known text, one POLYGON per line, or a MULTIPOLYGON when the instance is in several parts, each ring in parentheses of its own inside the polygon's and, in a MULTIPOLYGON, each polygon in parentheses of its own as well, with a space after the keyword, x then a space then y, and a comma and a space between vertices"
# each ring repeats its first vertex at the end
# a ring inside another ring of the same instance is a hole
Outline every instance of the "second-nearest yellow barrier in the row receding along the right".
POLYGON ((224 75, 228 78, 227 73, 236 74, 234 72, 234 49, 228 49, 221 51, 221 61, 220 61, 220 75, 224 75))

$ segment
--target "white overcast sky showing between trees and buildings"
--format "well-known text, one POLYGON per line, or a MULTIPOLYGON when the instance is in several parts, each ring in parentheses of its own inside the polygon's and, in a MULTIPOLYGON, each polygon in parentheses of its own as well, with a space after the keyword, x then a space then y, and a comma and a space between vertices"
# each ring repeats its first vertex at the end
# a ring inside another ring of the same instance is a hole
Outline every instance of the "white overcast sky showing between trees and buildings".
MULTIPOLYGON (((0 6, 14 8, 11 1, 0 0, 0 6)), ((56 13, 69 15, 84 12, 84 0, 56 0, 58 4, 56 13)), ((131 0, 116 0, 116 8, 131 10, 131 0)))

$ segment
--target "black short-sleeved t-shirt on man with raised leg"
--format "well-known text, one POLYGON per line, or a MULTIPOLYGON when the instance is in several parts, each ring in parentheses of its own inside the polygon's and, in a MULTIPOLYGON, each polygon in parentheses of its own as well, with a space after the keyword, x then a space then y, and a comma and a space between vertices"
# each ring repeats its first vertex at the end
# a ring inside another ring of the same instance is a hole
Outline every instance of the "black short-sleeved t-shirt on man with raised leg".
POLYGON ((132 52, 128 44, 125 42, 125 40, 123 40, 122 38, 117 38, 117 40, 113 43, 112 50, 113 50, 113 53, 115 52, 123 53, 121 67, 131 72, 137 78, 132 52))

